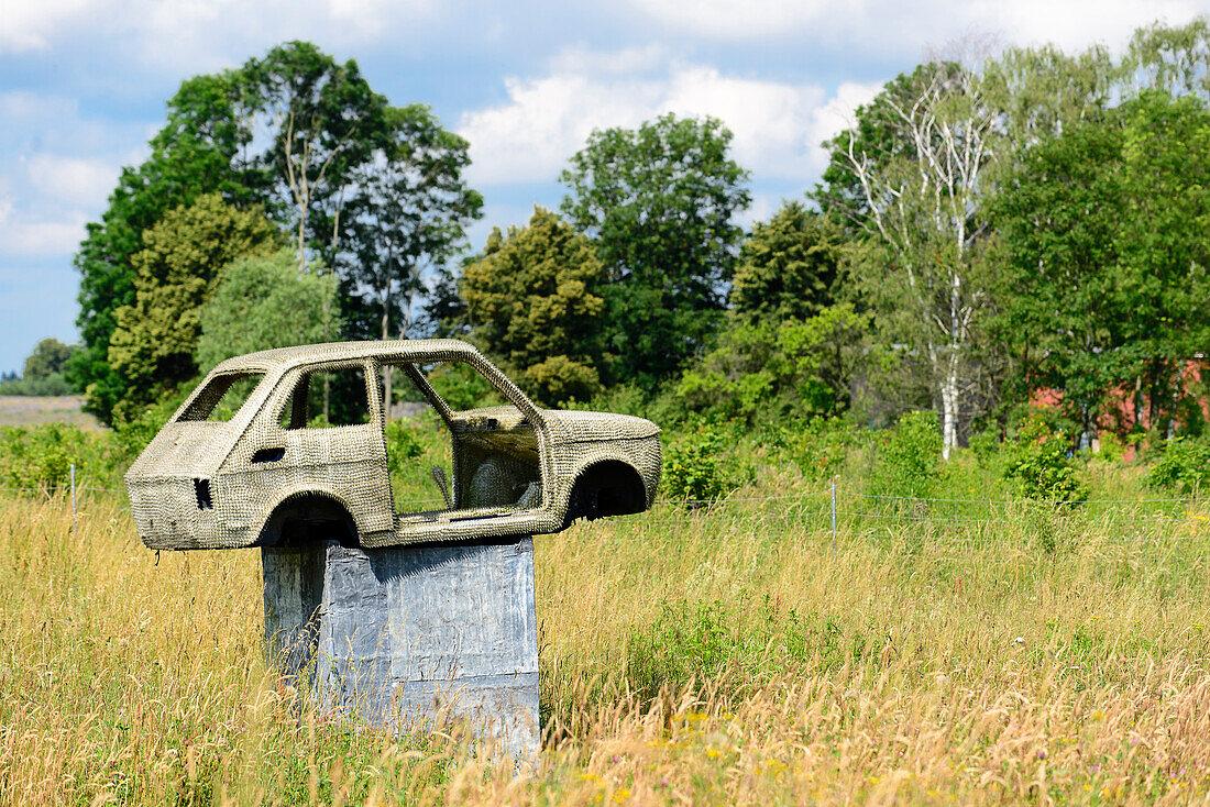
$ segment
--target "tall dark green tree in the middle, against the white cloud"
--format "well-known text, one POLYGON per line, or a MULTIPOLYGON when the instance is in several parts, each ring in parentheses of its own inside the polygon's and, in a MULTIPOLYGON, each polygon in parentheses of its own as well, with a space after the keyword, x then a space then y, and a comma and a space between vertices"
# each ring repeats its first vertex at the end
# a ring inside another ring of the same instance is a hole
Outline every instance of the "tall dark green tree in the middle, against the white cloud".
POLYGON ((713 330, 748 207, 748 172, 714 119, 664 115, 594 131, 560 175, 563 212, 609 271, 606 350, 616 380, 668 377, 713 330))

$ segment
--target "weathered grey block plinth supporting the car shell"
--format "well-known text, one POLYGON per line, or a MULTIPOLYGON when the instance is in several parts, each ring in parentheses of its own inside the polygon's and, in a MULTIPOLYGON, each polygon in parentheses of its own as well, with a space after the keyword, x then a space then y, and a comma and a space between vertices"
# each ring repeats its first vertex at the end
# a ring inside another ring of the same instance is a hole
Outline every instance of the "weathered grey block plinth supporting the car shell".
POLYGON ((264 548, 265 634, 321 709, 422 730, 469 722, 536 760, 534 540, 264 548))

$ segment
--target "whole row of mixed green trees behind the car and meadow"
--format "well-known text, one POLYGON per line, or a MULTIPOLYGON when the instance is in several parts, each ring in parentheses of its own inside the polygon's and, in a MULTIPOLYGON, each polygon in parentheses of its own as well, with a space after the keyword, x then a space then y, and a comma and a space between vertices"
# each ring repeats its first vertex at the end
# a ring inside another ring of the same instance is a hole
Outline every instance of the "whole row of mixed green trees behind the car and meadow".
POLYGON ((1208 104, 1204 18, 1120 57, 968 39, 887 82, 747 231, 731 133, 666 115, 595 131, 558 209, 471 253, 466 142, 290 42, 169 99, 76 255, 67 373, 113 422, 227 354, 457 335, 547 404, 923 408, 947 453, 1045 391, 1074 434, 1127 411, 1123 432, 1198 432, 1208 104))

